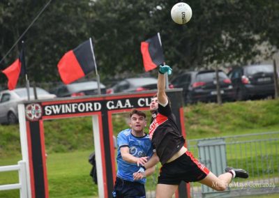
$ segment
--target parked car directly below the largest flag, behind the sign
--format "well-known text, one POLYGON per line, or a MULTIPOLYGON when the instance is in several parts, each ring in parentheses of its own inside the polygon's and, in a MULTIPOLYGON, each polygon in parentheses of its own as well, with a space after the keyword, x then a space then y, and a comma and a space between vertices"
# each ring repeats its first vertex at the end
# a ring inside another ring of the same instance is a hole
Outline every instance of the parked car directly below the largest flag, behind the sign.
MULTIPOLYGON (((105 93, 105 85, 100 83, 100 93, 105 93)), ((74 82, 72 84, 61 84, 52 89, 57 97, 90 96, 98 94, 98 83, 96 81, 74 82)))

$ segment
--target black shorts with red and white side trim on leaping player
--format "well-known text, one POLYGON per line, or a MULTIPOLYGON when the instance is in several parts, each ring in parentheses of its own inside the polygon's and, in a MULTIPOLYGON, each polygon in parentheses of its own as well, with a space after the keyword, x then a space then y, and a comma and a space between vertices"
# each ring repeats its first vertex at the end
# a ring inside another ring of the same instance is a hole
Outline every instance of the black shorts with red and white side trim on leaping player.
POLYGON ((208 174, 209 169, 195 159, 192 153, 186 151, 176 160, 161 167, 158 183, 179 185, 181 181, 201 181, 208 174))

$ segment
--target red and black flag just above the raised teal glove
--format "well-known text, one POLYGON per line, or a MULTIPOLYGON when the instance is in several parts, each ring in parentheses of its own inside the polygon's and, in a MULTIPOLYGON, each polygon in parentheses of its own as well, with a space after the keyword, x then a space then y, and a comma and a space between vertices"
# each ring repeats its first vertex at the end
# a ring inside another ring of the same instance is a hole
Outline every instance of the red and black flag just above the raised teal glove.
POLYGON ((153 70, 165 62, 159 33, 141 43, 145 71, 153 70))

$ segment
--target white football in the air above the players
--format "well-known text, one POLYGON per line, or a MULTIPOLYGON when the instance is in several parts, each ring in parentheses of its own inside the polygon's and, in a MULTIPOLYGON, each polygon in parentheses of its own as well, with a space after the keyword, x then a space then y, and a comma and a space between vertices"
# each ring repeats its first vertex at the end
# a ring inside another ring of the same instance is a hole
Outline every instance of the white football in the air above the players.
POLYGON ((187 3, 176 3, 170 12, 176 24, 186 24, 192 17, 192 9, 187 3))

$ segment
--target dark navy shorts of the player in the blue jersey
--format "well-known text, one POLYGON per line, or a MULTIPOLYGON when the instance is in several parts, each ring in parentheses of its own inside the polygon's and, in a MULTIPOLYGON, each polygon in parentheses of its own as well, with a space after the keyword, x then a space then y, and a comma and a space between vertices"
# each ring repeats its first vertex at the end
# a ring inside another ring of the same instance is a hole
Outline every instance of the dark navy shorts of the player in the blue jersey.
POLYGON ((144 184, 116 177, 112 195, 116 198, 145 198, 144 184))

